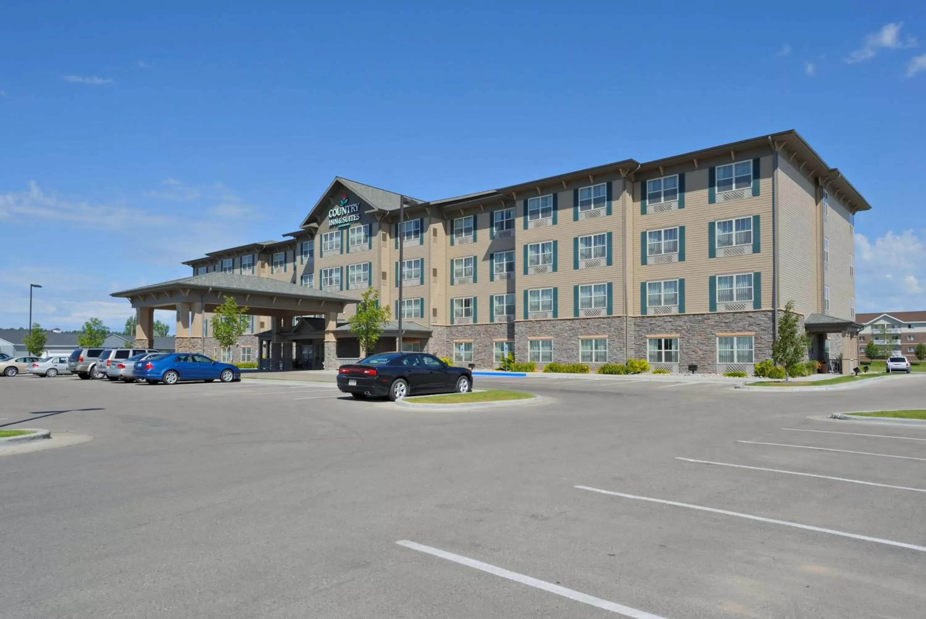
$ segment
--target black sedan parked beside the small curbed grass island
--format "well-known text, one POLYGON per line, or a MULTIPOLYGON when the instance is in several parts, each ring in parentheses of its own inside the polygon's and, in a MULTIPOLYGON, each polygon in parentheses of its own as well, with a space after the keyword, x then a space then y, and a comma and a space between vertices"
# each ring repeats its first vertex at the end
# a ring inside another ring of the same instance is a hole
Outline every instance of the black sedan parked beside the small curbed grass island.
POLYGON ((472 373, 432 354, 382 353, 338 368, 338 389, 360 400, 373 395, 395 402, 407 395, 466 393, 472 390, 472 373))

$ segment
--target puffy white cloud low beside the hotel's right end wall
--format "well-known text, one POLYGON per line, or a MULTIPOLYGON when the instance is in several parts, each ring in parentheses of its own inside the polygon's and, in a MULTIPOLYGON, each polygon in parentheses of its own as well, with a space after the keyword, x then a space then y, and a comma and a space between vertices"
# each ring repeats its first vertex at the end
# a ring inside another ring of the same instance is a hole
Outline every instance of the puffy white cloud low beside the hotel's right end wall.
POLYGON ((856 234, 856 294, 860 312, 926 307, 926 241, 912 229, 870 241, 856 234))

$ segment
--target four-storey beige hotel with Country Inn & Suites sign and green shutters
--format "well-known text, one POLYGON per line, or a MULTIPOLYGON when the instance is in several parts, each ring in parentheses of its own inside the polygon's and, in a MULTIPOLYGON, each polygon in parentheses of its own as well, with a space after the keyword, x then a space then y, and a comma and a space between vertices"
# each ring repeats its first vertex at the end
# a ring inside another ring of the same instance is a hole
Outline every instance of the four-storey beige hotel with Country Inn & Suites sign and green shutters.
MULTIPOLYGON (((336 316, 331 304, 316 317, 255 316, 240 350, 225 353, 235 361, 242 351, 284 366, 357 359, 346 321, 375 288, 403 316, 407 350, 457 364, 493 367, 511 351, 539 366, 645 358, 672 372, 750 371, 770 357, 776 310, 794 301, 810 354, 849 372, 861 328, 854 219, 869 209, 789 130, 432 201, 339 177, 285 241, 184 264, 190 281, 276 279, 313 303, 344 303, 336 316)), ((210 353, 207 321, 185 332, 210 353)), ((396 328, 381 350, 394 350, 396 328)))

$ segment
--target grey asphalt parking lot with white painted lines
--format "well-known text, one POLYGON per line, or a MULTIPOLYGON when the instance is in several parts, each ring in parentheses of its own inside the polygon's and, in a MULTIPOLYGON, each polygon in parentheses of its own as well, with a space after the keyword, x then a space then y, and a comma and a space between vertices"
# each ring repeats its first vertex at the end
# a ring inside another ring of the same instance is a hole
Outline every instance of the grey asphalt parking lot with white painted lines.
POLYGON ((9 617, 922 617, 922 407, 855 390, 477 378, 424 412, 332 383, 0 379, 9 617))

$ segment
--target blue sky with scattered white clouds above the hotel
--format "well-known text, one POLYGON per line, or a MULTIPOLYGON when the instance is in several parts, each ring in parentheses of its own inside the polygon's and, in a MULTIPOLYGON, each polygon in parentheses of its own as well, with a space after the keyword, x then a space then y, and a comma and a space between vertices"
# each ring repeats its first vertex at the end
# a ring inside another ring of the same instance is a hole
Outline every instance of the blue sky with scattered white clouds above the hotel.
POLYGON ((0 327, 30 282, 44 327, 121 327, 109 292, 335 175, 428 199, 784 129, 873 205, 858 310, 926 309, 924 3, 214 6, 0 7, 0 327))

